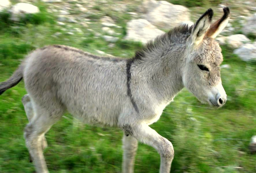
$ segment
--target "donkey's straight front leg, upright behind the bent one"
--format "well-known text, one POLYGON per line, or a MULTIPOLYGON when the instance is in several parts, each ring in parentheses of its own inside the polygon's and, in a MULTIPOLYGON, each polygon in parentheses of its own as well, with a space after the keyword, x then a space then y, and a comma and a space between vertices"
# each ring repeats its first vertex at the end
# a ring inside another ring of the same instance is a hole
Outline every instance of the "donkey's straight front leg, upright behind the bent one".
POLYGON ((138 148, 138 141, 131 135, 123 135, 123 173, 133 173, 134 160, 138 148))

